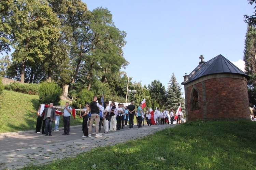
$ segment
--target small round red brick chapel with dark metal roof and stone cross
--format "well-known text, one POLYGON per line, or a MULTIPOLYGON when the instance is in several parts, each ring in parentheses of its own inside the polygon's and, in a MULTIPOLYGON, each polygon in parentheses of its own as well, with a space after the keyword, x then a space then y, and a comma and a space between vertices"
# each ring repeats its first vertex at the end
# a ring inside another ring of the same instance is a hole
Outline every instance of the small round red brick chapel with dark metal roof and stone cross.
POLYGON ((221 54, 184 76, 186 121, 250 119, 250 77, 221 54))

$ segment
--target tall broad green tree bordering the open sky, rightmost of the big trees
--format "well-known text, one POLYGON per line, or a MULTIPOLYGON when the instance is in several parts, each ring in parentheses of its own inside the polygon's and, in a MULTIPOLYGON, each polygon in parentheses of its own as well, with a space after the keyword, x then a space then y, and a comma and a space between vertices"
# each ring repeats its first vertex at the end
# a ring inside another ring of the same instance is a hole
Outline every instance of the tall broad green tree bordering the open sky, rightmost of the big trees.
POLYGON ((87 83, 88 90, 94 81, 102 80, 106 83, 108 78, 128 64, 122 50, 126 44, 126 33, 114 26, 108 9, 93 10, 88 23, 77 34, 81 39, 77 49, 82 50, 82 54, 77 54, 81 58, 77 60, 75 73, 81 64, 82 74, 86 75, 83 81, 87 83))

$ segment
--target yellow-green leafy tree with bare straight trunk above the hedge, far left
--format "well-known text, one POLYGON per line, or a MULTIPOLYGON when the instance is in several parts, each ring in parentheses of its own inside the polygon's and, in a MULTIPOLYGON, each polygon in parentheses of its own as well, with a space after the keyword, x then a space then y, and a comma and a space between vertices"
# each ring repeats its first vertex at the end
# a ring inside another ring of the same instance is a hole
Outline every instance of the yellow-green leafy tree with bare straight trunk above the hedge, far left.
POLYGON ((21 65, 20 81, 24 82, 26 62, 43 62, 50 54, 49 45, 59 36, 60 21, 44 0, 13 1, 9 19, 12 60, 21 65))

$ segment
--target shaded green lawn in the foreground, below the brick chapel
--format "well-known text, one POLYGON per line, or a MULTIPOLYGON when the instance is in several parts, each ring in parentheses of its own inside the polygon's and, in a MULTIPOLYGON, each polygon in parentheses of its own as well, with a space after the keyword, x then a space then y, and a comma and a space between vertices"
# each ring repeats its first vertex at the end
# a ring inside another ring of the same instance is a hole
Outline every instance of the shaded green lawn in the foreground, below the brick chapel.
POLYGON ((143 139, 24 169, 256 169, 256 122, 187 122, 143 139))

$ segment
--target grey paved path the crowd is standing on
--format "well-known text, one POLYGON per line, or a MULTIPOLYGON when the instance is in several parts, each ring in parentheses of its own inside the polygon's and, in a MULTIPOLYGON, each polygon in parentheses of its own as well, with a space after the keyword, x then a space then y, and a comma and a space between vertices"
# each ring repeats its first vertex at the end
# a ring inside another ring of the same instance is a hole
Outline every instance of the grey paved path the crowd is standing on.
MULTIPOLYGON (((138 139, 175 125, 152 125, 143 126, 143 128, 135 125, 134 129, 124 127, 117 132, 102 134, 101 138, 95 138, 95 135, 91 138, 83 138, 82 126, 72 126, 69 136, 62 135, 61 128, 58 132, 52 132, 52 136, 44 136, 34 131, 0 134, 0 169, 19 169, 31 164, 46 164, 52 162, 53 158, 57 160, 76 156, 97 146, 114 145, 129 139, 138 139)), ((103 130, 104 128, 101 131, 103 130)))

